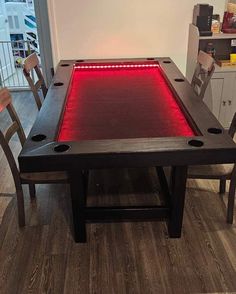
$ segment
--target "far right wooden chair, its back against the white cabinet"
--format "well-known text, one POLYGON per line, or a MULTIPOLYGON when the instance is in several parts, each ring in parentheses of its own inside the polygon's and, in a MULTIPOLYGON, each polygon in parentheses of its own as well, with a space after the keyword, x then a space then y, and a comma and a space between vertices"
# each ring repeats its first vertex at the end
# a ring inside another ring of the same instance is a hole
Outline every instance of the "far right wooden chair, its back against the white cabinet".
POLYGON ((214 63, 214 58, 201 50, 199 51, 191 86, 200 99, 204 98, 206 88, 214 73, 214 63))

